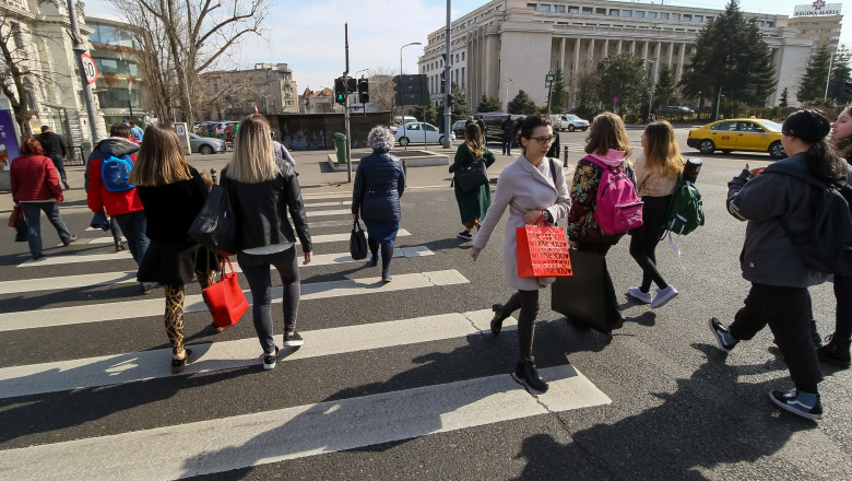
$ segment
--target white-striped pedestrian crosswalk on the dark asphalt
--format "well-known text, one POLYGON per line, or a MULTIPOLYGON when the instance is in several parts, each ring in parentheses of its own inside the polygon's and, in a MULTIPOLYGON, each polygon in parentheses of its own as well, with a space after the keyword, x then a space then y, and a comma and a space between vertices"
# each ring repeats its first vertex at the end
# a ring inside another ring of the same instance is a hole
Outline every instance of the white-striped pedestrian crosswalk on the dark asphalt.
MULTIPOLYGON (((194 361, 179 375, 173 375, 168 366, 170 349, 162 332, 162 291, 153 297, 116 294, 126 292, 120 291, 122 285, 135 282, 135 265, 128 253, 111 253, 111 237, 103 237, 99 231, 81 228, 78 232, 84 232, 84 242, 67 251, 4 267, 8 280, 0 281, 0 303, 7 308, 0 312, 0 336, 25 339, 68 333, 69 347, 67 352, 51 353, 43 362, 17 364, 4 360, 0 365, 0 425, 3 420, 25 423, 27 409, 44 409, 44 403, 57 403, 57 410, 62 411, 69 399, 92 412, 71 412, 63 422, 54 421, 69 426, 55 426, 56 436, 39 436, 51 431, 50 422, 44 421, 43 426, 39 420, 28 426, 15 424, 0 430, 0 478, 182 479, 611 402, 570 364, 542 369, 551 382, 546 394, 525 390, 501 367, 462 378, 422 375, 418 369, 424 350, 455 345, 454 354, 434 354, 446 356, 450 365, 465 362, 453 361, 453 356, 493 356, 493 344, 484 350, 475 348, 494 341, 489 330, 493 313, 484 306, 459 305, 455 310, 437 314, 412 307, 428 301, 409 301, 435 300, 438 304, 471 285, 470 273, 465 272, 470 268, 449 262, 441 235, 416 222, 403 223, 405 228, 399 233, 392 282, 383 283, 378 270, 360 267, 363 261, 352 259, 346 251, 352 226, 347 198, 343 193, 305 195, 315 256, 310 265, 300 265, 300 310, 313 316, 321 313, 322 318, 300 314, 305 345, 284 348, 279 366, 271 372, 260 369, 262 355, 251 326, 251 310, 222 335, 192 339, 190 335, 198 330, 199 322, 210 320, 198 286, 188 286, 187 342, 194 361), (25 308, 32 302, 38 307, 25 308), (121 333, 120 345, 129 349, 108 345, 116 332, 121 333), (357 368, 375 363, 374 367, 380 369, 379 360, 404 359, 410 352, 409 362, 414 367, 399 367, 393 377, 404 382, 389 379, 360 386, 345 375, 339 378, 318 367, 357 368), (187 396, 234 401, 248 395, 241 394, 250 390, 246 384, 261 383, 268 389, 277 389, 287 379, 298 377, 303 368, 323 373, 317 379, 320 384, 343 379, 339 394, 313 396, 303 388, 292 400, 245 412, 236 409, 218 413, 214 409, 217 414, 208 414, 189 409, 192 414, 186 419, 187 408, 169 401, 182 390, 187 396), (211 376, 221 376, 221 380, 203 382, 211 376), (186 385, 181 387, 181 383, 186 385), (103 394, 116 389, 125 392, 120 401, 115 400, 125 406, 123 412, 100 403, 103 394), (153 399, 147 402, 177 414, 147 421, 142 413, 150 410, 141 400, 128 400, 134 398, 153 399), (13 419, 13 411, 23 418, 13 419), (134 414, 137 411, 140 414, 134 414), (98 420, 105 426, 118 424, 108 429, 99 426, 98 420)), ((406 215, 416 219, 411 212, 406 215)), ((80 215, 67 222, 82 225, 85 221, 80 215)), ((238 265, 234 267, 239 272, 238 265)), ((245 279, 241 281, 251 302, 245 279)), ((280 286, 273 288, 272 298, 275 313, 274 305, 282 302, 280 286)), ((275 340, 282 345, 280 312, 273 319, 279 332, 275 340)), ((511 336, 516 326, 514 318, 507 319, 504 332, 511 336)))

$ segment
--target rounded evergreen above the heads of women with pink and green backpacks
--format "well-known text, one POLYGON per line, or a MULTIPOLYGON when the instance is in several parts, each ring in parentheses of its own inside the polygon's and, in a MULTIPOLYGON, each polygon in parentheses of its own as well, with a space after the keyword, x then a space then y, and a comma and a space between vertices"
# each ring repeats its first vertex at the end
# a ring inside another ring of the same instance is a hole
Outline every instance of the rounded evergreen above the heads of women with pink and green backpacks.
POLYGON ((613 105, 613 98, 618 97, 616 109, 619 115, 625 106, 641 103, 650 86, 644 60, 637 55, 611 55, 597 63, 597 101, 603 105, 613 105))

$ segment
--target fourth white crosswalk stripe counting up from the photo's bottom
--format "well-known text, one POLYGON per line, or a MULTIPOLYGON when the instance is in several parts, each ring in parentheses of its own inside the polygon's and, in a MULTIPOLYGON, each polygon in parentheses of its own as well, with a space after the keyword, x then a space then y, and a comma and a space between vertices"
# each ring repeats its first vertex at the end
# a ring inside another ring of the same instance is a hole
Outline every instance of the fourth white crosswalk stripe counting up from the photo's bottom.
MULTIPOLYGON (((394 258, 425 257, 434 255, 435 253, 426 246, 397 247, 393 249, 394 258)), ((360 261, 362 260, 354 260, 348 253, 319 254, 313 256, 309 265, 305 266, 304 263, 299 262, 298 266, 300 268, 309 268, 360 261)), ((234 270, 236 272, 241 272, 238 265, 234 265, 234 270)), ((57 278, 19 279, 16 281, 0 282, 0 295, 22 292, 52 291, 59 289, 73 290, 96 285, 114 285, 131 282, 137 282, 135 270, 123 272, 98 272, 93 274, 63 275, 57 278)))

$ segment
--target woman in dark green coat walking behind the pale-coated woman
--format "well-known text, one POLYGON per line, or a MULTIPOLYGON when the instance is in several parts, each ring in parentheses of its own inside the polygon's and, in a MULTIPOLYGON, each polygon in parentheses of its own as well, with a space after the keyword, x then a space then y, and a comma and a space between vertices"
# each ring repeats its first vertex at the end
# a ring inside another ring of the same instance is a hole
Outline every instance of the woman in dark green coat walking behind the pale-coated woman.
MULTIPOLYGON (((450 174, 480 159, 485 162, 486 167, 490 167, 496 160, 492 151, 482 143, 480 126, 470 124, 464 128, 464 143, 455 150, 455 156, 452 165, 450 165, 450 174)), ((492 186, 485 184, 470 192, 465 192, 459 187, 459 184, 455 184, 453 190, 455 202, 459 204, 462 225, 464 225, 464 231, 460 232, 458 237, 462 241, 472 241, 473 234, 471 234, 471 230, 473 227, 480 228, 480 222, 485 219, 488 207, 492 204, 492 186)))

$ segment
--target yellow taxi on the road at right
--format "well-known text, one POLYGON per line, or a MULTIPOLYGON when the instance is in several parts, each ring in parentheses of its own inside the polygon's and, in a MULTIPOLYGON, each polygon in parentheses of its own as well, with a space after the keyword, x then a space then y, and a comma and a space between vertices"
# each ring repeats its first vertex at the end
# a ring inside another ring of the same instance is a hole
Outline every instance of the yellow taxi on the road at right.
POLYGON ((721 150, 768 152, 772 159, 784 159, 781 124, 761 118, 733 118, 708 124, 689 131, 686 144, 702 154, 721 150))

